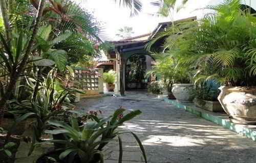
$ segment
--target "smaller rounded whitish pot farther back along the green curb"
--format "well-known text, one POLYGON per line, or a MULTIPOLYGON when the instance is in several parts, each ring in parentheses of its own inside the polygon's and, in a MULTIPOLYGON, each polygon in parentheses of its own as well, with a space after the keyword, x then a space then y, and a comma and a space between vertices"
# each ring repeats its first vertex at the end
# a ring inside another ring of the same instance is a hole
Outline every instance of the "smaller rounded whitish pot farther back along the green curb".
POLYGON ((194 96, 191 95, 190 90, 193 89, 193 84, 174 84, 172 92, 178 102, 191 103, 194 96))

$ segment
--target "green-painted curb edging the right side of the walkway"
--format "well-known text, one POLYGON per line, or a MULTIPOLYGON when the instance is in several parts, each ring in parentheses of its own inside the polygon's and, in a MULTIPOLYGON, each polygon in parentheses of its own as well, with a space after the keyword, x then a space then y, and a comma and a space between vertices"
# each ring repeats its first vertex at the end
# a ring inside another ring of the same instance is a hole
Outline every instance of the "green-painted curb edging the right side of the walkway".
POLYGON ((172 105, 175 105, 178 108, 184 108, 184 110, 187 112, 196 114, 201 118, 204 118, 211 122, 217 123, 217 124, 223 126, 224 128, 227 128, 231 131, 242 134, 242 135, 246 136, 247 138, 249 138, 253 141, 256 141, 256 125, 255 126, 250 125, 254 128, 254 129, 251 129, 250 126, 235 124, 235 123, 230 122, 227 116, 223 116, 221 114, 218 115, 218 113, 211 113, 208 111, 204 111, 201 108, 197 108, 196 106, 191 105, 191 104, 182 104, 182 103, 177 102, 176 100, 169 100, 168 98, 164 98, 164 101, 167 103, 170 103, 172 105))

